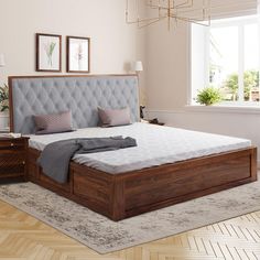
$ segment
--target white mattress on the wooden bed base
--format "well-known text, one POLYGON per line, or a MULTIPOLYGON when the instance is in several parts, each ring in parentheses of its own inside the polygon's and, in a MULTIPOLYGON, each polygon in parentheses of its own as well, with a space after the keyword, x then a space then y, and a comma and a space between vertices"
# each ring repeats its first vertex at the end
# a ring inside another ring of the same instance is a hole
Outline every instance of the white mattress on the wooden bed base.
POLYGON ((251 141, 137 122, 113 128, 85 128, 74 132, 30 136, 29 145, 43 150, 51 142, 72 138, 131 137, 138 147, 117 151, 76 154, 73 161, 111 174, 174 163, 248 148, 251 141))

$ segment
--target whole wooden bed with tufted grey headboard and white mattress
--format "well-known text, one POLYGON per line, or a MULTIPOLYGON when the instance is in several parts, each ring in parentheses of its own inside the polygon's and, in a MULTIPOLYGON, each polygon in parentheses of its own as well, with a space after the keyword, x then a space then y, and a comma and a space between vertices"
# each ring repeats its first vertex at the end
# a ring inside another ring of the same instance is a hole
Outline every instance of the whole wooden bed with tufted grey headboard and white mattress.
POLYGON ((140 123, 136 75, 9 77, 9 87, 11 130, 30 134, 26 178, 112 220, 257 180, 257 149, 248 140, 140 123), (133 123, 97 128, 98 106, 129 107, 133 123), (32 136, 32 115, 66 109, 77 131, 32 136), (47 177, 36 164, 44 147, 83 134, 132 136, 138 147, 76 155, 65 184, 47 177))

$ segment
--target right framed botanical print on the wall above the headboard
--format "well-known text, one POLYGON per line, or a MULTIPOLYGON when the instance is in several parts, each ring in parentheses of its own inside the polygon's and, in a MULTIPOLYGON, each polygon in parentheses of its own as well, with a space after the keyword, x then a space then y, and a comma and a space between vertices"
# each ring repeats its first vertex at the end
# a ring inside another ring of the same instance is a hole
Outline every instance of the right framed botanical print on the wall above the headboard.
POLYGON ((90 72, 90 39, 67 36, 67 73, 90 72))

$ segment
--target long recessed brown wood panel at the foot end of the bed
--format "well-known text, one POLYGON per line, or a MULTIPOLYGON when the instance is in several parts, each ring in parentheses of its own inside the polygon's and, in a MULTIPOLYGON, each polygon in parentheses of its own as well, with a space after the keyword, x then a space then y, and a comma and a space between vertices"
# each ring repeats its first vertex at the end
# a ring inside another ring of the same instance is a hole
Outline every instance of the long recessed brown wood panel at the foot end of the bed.
MULTIPOLYGON (((145 174, 126 180, 126 210, 132 210, 136 207, 149 206, 150 204, 160 204, 161 202, 183 201, 184 196, 201 192, 207 194, 207 189, 219 187, 224 184, 231 184, 238 180, 250 177, 250 154, 236 156, 231 155, 228 160, 221 156, 215 158, 210 162, 210 172, 208 172, 207 160, 198 159, 188 163, 176 163, 175 167, 165 165, 160 171, 154 167, 145 174), (199 176, 198 176, 199 172, 199 176)), ((201 196, 202 196, 201 195, 201 196)))

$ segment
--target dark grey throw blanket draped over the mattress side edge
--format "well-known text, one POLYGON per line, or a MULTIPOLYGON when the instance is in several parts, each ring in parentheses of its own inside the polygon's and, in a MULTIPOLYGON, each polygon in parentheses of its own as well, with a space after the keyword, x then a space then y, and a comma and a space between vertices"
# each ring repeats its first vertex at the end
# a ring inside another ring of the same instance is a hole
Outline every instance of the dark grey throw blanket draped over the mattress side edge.
POLYGON ((95 153, 137 147, 132 138, 80 138, 47 144, 37 159, 44 174, 58 183, 66 183, 71 159, 77 153, 95 153))

